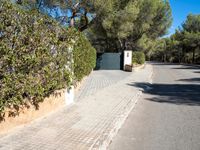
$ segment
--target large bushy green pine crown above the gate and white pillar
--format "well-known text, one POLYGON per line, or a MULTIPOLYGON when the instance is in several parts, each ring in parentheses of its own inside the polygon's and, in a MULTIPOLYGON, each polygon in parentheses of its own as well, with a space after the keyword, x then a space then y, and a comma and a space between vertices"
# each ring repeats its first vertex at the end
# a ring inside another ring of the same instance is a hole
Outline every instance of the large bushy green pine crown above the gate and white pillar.
MULTIPOLYGON (((96 33, 95 36, 100 39, 119 41, 121 50, 127 48, 127 43, 128 49, 140 50, 137 45, 138 40, 142 37, 148 38, 149 41, 155 40, 165 35, 172 23, 168 0, 108 1, 110 5, 100 6, 100 8, 104 6, 108 12, 98 15, 92 29, 96 33)), ((145 47, 148 47, 147 44, 145 47)))

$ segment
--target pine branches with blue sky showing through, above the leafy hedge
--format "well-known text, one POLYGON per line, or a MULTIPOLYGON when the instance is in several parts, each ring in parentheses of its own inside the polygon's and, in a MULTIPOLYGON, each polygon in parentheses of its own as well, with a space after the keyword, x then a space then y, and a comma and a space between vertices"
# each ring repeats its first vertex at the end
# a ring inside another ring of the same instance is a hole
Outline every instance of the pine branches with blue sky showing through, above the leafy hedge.
POLYGON ((23 9, 37 10, 47 14, 63 26, 75 27, 79 31, 88 28, 89 20, 92 20, 94 12, 91 0, 21 0, 21 3, 17 4, 23 9), (69 12, 72 16, 68 15, 69 12))

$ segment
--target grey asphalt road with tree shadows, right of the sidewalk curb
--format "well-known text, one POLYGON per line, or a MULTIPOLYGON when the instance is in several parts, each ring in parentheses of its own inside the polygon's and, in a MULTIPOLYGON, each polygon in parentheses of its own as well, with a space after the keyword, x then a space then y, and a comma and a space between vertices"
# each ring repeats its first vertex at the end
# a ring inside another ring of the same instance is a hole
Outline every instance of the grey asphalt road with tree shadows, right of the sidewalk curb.
POLYGON ((200 150, 200 67, 154 63, 144 91, 110 150, 200 150))

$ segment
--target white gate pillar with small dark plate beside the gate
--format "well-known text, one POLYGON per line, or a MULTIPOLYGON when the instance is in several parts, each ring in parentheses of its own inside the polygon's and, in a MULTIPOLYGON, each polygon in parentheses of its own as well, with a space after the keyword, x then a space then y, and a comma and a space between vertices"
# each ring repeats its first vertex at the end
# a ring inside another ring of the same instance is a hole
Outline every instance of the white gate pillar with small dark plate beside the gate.
POLYGON ((132 50, 124 51, 124 70, 132 71, 132 50))

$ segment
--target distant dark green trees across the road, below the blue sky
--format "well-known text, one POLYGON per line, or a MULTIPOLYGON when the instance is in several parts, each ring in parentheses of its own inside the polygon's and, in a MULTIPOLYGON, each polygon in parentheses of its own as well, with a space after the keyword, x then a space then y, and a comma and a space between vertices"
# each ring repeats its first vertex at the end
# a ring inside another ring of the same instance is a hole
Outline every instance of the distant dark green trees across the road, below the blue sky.
MULTIPOLYGON (((186 21, 176 32, 166 39, 163 53, 158 55, 158 59, 164 55, 166 59, 162 61, 200 63, 200 15, 188 15, 186 21)), ((154 57, 155 58, 155 57, 154 57)))

